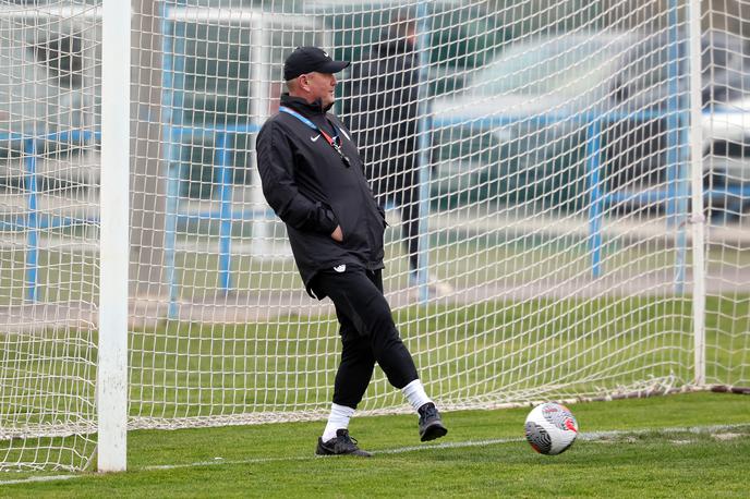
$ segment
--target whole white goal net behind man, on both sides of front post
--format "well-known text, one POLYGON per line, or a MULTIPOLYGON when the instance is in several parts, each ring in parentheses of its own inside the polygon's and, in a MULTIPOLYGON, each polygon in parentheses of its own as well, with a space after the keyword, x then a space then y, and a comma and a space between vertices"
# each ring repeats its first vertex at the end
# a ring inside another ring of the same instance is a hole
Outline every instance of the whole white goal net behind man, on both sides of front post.
MULTIPOLYGON (((133 1, 129 428, 329 411, 336 315, 255 157, 309 45, 352 61, 332 112, 440 407, 750 386, 750 19, 698 3, 133 1)), ((0 0, 0 470, 97 449, 101 12, 0 0)), ((408 407, 376 369, 359 410, 408 407)))

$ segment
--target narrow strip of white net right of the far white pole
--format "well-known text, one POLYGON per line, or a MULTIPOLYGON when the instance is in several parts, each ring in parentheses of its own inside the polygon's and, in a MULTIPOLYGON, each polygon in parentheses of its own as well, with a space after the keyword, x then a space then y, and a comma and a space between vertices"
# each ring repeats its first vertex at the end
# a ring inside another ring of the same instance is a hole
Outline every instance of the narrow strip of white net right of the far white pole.
POLYGON ((704 185, 706 238, 706 382, 747 387, 750 379, 748 308, 748 63, 747 2, 713 2, 703 13, 704 185), (726 47, 725 50, 712 47, 726 47), (711 85, 710 82, 718 84, 711 85))

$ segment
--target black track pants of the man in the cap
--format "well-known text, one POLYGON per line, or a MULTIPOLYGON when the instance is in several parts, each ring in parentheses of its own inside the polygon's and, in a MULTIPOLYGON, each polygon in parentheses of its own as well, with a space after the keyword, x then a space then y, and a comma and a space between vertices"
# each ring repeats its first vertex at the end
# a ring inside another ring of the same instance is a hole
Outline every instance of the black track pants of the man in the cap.
POLYGON ((314 288, 331 299, 341 326, 343 346, 334 385, 334 403, 356 407, 376 362, 398 389, 418 379, 414 361, 399 337, 383 295, 380 270, 349 266, 343 272, 324 270, 315 277, 314 288))

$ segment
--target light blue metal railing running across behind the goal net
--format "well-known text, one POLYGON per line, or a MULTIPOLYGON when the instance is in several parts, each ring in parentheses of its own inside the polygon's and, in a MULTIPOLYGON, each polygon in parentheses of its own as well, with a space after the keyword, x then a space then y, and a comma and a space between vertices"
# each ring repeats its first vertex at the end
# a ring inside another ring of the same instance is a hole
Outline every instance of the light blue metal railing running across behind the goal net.
MULTIPOLYGON (((656 120, 665 119, 666 113, 655 112, 638 112, 638 113, 579 113, 572 115, 564 114, 545 114, 532 117, 494 117, 481 119, 435 119, 432 122, 434 129, 453 126, 457 124, 472 125, 477 127, 497 127, 519 122, 532 122, 539 125, 551 124, 559 121, 573 120, 578 121, 581 126, 585 127, 585 165, 586 165, 586 185, 589 192, 589 235, 588 247, 591 255, 591 272, 594 278, 602 275, 602 252, 603 252, 603 236, 602 236, 602 217, 606 205, 621 204, 621 203, 648 203, 648 204, 664 204, 665 207, 677 206, 677 210, 673 208, 669 211, 672 217, 682 219, 687 211, 687 194, 685 192, 684 181, 680 175, 685 174, 684 165, 678 165, 677 168, 667 168, 669 178, 667 179, 667 188, 648 192, 607 193, 603 184, 602 172, 602 134, 605 130, 605 123, 612 123, 621 120, 656 120), (682 173, 680 173, 682 170, 682 173), (679 186, 675 186, 679 183, 679 186), (678 199, 680 198, 679 203, 678 199), (685 203, 681 203, 681 200, 685 203), (682 210, 682 211, 679 211, 682 210), (679 212, 678 212, 679 211, 679 212)), ((171 147, 179 149, 182 146, 185 137, 195 136, 211 136, 216 147, 215 166, 217 168, 218 180, 218 211, 203 211, 197 214, 181 212, 179 209, 180 185, 184 179, 184 165, 181 161, 172 161, 169 163, 168 182, 167 182, 167 217, 165 220, 165 267, 167 272, 167 280, 170 287, 170 308, 172 313, 177 314, 177 293, 179 284, 177 282, 174 254, 177 243, 177 231, 180 223, 190 223, 196 221, 218 221, 219 222, 219 287, 222 291, 231 290, 231 238, 232 223, 237 220, 271 220, 275 215, 269 209, 233 209, 232 203, 232 147, 237 134, 254 134, 258 132, 258 126, 254 124, 238 124, 227 125, 223 127, 190 127, 190 126, 172 126, 169 129, 169 136, 171 137, 171 147), (173 293, 173 294, 172 294, 173 293)), ((2 231, 27 231, 26 233, 26 270, 25 270, 25 297, 29 301, 39 300, 39 283, 38 283, 38 254, 39 254, 39 232, 47 228, 65 228, 80 224, 96 223, 96 217, 93 218, 76 218, 76 217, 59 217, 52 215, 39 214, 37 200, 39 193, 39 181, 37 179, 37 161, 40 156, 40 148, 43 143, 61 142, 61 143, 76 143, 81 145, 98 143, 101 139, 99 132, 93 131, 62 131, 55 133, 44 133, 37 135, 24 134, 0 134, 2 142, 17 142, 19 147, 23 148, 23 163, 24 163, 24 188, 26 191, 26 214, 19 216, 13 220, 0 221, 0 230, 2 231)), ((680 163, 687 160, 680 155, 670 156, 673 160, 678 160, 680 163)), ((727 198, 727 197, 750 197, 750 186, 729 185, 723 188, 712 188, 704 191, 706 198, 727 198)), ((684 219, 682 219, 684 221, 684 219)), ((677 222, 669 222, 677 223, 677 222)), ((678 238, 684 236, 682 231, 686 230, 686 224, 679 222, 676 226, 678 230, 678 238)), ((679 242, 679 241, 678 241, 679 242)), ((677 246, 680 247, 679 245, 677 246)), ((676 291, 681 292, 685 276, 685 258, 679 258, 676 265, 676 291)))

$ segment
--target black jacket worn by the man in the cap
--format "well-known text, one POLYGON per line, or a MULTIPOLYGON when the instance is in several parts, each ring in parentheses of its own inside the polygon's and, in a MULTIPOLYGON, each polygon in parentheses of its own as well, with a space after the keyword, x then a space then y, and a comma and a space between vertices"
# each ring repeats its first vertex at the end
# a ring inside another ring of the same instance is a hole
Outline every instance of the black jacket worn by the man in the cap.
POLYGON ((266 200, 287 224, 294 260, 307 292, 318 299, 314 277, 340 265, 371 270, 383 268, 385 216, 364 177, 351 133, 318 104, 281 96, 286 106, 311 120, 328 135, 339 129, 347 167, 317 131, 298 118, 279 112, 257 136, 257 166, 266 200), (343 242, 330 234, 340 226, 343 242))

